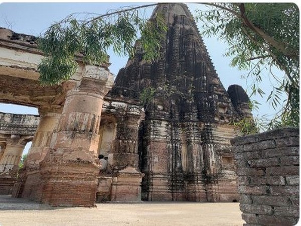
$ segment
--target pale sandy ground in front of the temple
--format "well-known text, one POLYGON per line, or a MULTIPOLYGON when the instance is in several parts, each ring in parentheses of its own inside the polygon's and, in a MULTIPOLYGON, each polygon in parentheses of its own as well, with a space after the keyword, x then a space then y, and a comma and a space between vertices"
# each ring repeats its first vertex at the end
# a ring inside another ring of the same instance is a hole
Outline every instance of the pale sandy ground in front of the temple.
POLYGON ((0 225, 241 226, 239 203, 101 203, 94 208, 51 207, 0 195, 0 225))

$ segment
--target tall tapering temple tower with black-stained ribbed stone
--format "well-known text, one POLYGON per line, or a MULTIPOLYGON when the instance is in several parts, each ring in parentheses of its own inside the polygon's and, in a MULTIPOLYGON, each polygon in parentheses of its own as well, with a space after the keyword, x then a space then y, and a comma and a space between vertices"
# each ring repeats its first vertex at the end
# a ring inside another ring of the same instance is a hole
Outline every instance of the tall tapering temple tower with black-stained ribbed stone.
POLYGON ((130 101, 155 90, 139 127, 142 200, 237 201, 231 122, 250 116, 248 98, 237 85, 225 90, 186 5, 159 5, 152 18, 158 13, 168 25, 161 59, 146 63, 138 52, 108 94, 130 101))

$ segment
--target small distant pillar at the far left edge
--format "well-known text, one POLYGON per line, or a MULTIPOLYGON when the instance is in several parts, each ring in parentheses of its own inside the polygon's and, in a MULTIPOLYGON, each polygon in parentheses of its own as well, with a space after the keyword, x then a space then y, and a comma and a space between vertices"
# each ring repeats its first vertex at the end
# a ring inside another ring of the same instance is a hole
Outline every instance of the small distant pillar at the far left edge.
POLYGON ((27 140, 12 135, 0 161, 0 194, 11 194, 17 180, 19 162, 27 140))

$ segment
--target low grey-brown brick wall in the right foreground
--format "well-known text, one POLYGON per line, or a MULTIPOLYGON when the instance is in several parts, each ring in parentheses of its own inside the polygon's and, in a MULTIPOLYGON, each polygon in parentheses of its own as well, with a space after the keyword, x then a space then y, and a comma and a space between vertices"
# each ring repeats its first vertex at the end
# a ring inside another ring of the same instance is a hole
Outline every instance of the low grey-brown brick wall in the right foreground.
POLYGON ((299 219, 299 129, 231 140, 244 225, 294 225, 299 219))

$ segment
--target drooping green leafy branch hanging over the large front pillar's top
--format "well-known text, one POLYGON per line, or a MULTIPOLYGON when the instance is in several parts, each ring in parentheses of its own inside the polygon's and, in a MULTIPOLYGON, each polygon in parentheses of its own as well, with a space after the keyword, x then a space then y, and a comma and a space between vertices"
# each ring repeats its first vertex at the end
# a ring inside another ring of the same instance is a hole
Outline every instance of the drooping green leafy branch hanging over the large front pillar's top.
MULTIPOLYGON (((137 32, 142 38, 143 59, 153 61, 160 58, 163 31, 167 30, 162 15, 150 21, 141 19, 140 8, 122 9, 105 15, 77 20, 72 14, 55 23, 38 39, 38 47, 45 58, 38 66, 42 84, 58 84, 68 80, 77 69, 76 56, 84 63, 102 65, 108 62, 107 50, 113 48, 118 55, 132 56, 137 32)), ((90 14, 88 14, 90 15, 90 14)))

